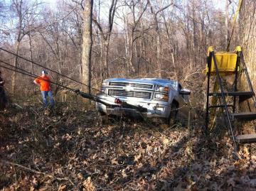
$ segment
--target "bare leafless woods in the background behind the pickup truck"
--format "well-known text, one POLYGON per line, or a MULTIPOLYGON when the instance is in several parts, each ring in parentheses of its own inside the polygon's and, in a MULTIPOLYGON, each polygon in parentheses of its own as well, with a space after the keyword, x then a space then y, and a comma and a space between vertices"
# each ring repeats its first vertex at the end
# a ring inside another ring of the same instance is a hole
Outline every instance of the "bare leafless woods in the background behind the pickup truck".
MULTIPOLYGON (((88 15, 86 2, 1 1, 0 45, 18 55, 81 80, 82 33, 88 15)), ((206 51, 209 45, 225 50, 238 1, 96 0, 92 9, 92 86, 108 77, 163 77, 190 87, 203 98, 206 51)), ((255 54, 255 2, 243 1, 231 48, 242 45, 250 75, 255 54)), ((41 68, 0 51, 2 60, 39 75, 41 68)), ((2 70, 2 69, 1 69, 2 70)), ((9 94, 36 92, 30 77, 4 70, 9 94), (33 88, 32 88, 33 87, 33 88)), ((53 81, 80 88, 50 73, 53 81)), ((58 97, 59 88, 55 87, 58 97)), ((63 93, 63 92, 62 92, 63 93)), ((95 92, 94 92, 95 93, 95 92)))

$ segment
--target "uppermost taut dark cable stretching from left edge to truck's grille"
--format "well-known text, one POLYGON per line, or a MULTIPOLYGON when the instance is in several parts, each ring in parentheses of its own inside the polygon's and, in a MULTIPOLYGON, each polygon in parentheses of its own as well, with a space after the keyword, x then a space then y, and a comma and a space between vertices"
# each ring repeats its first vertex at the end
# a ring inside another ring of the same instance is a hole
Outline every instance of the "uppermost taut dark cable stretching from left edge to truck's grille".
MULTIPOLYGON (((67 75, 63 75, 63 74, 61 74, 60 72, 57 72, 57 71, 55 71, 55 70, 52 70, 52 69, 50 69, 49 67, 45 67, 45 66, 43 66, 43 65, 40 65, 40 64, 38 64, 38 63, 36 63, 36 62, 34 62, 34 61, 32 61, 32 60, 28 60, 27 58, 24 58, 24 57, 22 57, 21 55, 18 55, 18 54, 16 54, 16 53, 13 53, 13 52, 11 52, 11 51, 9 51, 9 50, 6 50, 6 49, 1 48, 1 47, 0 47, 0 50, 3 50, 3 51, 5 51, 6 53, 9 53, 9 54, 11 54, 11 55, 15 55, 15 56, 18 57, 18 58, 21 58, 21 59, 23 59, 23 60, 26 60, 27 62, 31 62, 33 65, 38 65, 38 66, 40 66, 40 67, 43 67, 44 69, 49 70, 50 72, 54 72, 55 74, 58 74, 58 75, 60 75, 60 76, 62 76, 62 77, 65 77, 65 78, 67 78, 68 80, 73 80, 74 82, 77 82, 77 83, 79 83, 79 84, 85 85, 86 87, 89 87, 90 89, 94 89, 94 90, 97 91, 97 92, 101 92, 101 93, 106 94, 105 92, 102 92, 100 89, 96 89, 95 87, 91 87, 91 86, 89 86, 89 85, 87 85, 87 84, 85 84, 85 83, 82 83, 82 82, 80 82, 80 81, 78 81, 78 80, 75 80, 75 79, 73 79, 73 78, 71 78, 71 77, 68 77, 67 75)), ((21 69, 19 69, 19 70, 21 70, 21 69)), ((112 95, 107 95, 107 96, 113 97, 112 95)), ((116 99, 116 97, 113 97, 113 98, 116 99)))

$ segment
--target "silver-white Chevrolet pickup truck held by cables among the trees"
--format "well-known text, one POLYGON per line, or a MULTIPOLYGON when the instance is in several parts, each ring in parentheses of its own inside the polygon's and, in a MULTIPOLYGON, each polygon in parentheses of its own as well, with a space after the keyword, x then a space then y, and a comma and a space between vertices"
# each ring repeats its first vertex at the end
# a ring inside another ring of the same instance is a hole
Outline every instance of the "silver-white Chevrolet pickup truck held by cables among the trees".
POLYGON ((102 114, 158 117, 170 124, 176 119, 188 119, 188 111, 191 111, 191 118, 195 116, 188 99, 189 94, 190 90, 183 89, 175 80, 107 79, 102 82, 97 97, 110 105, 97 102, 96 109, 102 114), (116 102, 117 99, 144 110, 138 111, 136 108, 121 106, 116 102))

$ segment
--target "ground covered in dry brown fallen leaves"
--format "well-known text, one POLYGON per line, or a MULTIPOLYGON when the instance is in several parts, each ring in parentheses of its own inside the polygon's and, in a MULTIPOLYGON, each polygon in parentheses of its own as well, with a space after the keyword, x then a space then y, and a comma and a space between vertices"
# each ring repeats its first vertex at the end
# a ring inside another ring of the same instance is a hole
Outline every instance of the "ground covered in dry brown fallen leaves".
POLYGON ((234 160, 228 136, 205 141, 203 119, 169 127, 27 106, 0 122, 0 190, 256 190, 255 146, 234 160))

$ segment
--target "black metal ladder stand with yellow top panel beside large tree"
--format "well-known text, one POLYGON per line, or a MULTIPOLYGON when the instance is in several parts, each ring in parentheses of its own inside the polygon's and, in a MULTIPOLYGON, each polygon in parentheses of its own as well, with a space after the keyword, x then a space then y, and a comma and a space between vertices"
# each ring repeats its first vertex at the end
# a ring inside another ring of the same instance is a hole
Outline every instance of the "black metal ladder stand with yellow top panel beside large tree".
POLYGON ((256 133, 234 135, 234 121, 252 121, 256 119, 256 112, 238 112, 236 104, 238 102, 244 102, 247 99, 252 99, 256 108, 255 92, 252 88, 252 83, 245 65, 245 60, 242 54, 240 46, 235 48, 234 52, 214 52, 213 47, 208 48, 208 59, 206 65, 207 81, 207 99, 206 99, 206 131, 208 131, 209 124, 209 109, 221 108, 223 111, 223 118, 225 126, 230 131, 233 139, 233 145, 235 152, 237 151, 237 143, 252 143, 256 142, 256 133), (242 68, 242 69, 241 69, 242 68), (250 91, 239 92, 238 91, 238 72, 245 72, 245 77, 250 91), (223 83, 221 82, 221 76, 235 75, 234 87, 232 92, 224 92, 223 83), (219 90, 215 89, 214 92, 210 92, 210 77, 215 76, 219 86, 219 90), (218 92, 216 92, 218 91, 218 92), (218 98, 220 104, 210 105, 209 97, 218 98), (233 97, 233 104, 227 104, 226 97, 233 97), (236 98, 238 102, 236 101, 236 98))

